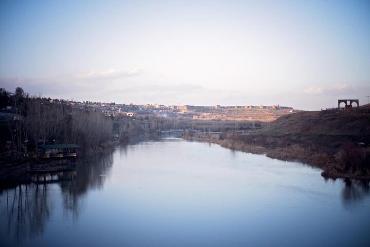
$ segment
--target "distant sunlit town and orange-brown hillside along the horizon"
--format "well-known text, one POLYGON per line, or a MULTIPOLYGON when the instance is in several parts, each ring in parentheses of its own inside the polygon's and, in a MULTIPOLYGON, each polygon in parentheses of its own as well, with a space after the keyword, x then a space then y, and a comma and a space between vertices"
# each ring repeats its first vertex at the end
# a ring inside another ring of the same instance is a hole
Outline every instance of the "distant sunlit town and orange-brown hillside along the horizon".
POLYGON ((81 109, 95 109, 107 116, 172 117, 194 120, 239 120, 272 122, 280 116, 296 112, 292 107, 280 106, 165 106, 162 104, 116 104, 91 101, 47 99, 46 103, 66 103, 81 109))

